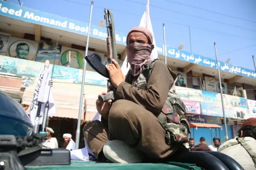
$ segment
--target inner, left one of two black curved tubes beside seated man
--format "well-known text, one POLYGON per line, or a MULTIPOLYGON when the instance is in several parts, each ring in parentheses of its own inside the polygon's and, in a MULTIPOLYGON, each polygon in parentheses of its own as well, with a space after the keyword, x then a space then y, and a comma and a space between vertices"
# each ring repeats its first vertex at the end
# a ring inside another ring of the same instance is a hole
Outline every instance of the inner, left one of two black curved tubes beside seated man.
POLYGON ((172 162, 196 164, 205 170, 230 170, 215 156, 201 151, 182 152, 171 159, 172 162))

